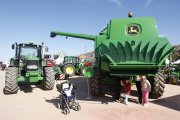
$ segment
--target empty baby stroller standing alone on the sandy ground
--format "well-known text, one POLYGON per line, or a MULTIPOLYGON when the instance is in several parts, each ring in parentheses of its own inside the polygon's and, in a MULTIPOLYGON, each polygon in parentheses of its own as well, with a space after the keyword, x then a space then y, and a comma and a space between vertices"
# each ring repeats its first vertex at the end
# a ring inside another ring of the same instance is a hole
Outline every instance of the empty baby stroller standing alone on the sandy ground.
POLYGON ((57 90, 60 94, 60 108, 63 110, 65 115, 70 113, 70 109, 79 111, 81 106, 76 100, 76 86, 69 81, 63 82, 56 85, 57 90))

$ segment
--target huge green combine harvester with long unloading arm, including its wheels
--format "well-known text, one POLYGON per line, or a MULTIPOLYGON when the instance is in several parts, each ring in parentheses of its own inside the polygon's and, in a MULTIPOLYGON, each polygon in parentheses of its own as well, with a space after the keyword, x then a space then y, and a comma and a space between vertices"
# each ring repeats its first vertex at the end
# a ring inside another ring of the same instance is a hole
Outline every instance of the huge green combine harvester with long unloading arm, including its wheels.
POLYGON ((91 93, 117 94, 120 80, 146 75, 152 85, 151 98, 163 95, 165 80, 159 68, 173 51, 167 38, 159 37, 154 18, 112 19, 99 35, 52 31, 57 35, 95 42, 96 66, 91 77, 91 93))

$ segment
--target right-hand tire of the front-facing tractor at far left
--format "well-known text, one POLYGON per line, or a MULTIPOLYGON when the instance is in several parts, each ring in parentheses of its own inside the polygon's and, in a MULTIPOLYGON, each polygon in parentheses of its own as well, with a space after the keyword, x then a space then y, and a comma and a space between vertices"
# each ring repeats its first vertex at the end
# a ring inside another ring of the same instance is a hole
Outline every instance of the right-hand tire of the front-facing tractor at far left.
POLYGON ((52 90, 54 88, 55 74, 53 67, 44 68, 44 81, 43 85, 46 90, 52 90))

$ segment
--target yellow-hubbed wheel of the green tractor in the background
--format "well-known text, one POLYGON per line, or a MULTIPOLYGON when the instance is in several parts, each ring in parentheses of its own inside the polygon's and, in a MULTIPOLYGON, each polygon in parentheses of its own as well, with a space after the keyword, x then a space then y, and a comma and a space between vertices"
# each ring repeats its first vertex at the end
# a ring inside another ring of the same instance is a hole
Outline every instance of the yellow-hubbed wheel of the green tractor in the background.
POLYGON ((69 76, 73 76, 75 74, 75 67, 73 64, 66 64, 63 67, 64 74, 69 74, 69 76))

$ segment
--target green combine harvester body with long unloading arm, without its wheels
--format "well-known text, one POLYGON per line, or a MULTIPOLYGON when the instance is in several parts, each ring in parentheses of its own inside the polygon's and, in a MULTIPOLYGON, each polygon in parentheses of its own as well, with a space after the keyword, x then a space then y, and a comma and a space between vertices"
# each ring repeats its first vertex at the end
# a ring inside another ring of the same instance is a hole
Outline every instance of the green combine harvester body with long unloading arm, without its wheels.
POLYGON ((97 36, 51 32, 56 35, 94 41, 97 66, 112 75, 155 74, 174 49, 150 17, 112 19, 97 36))

